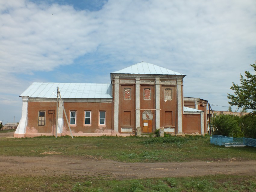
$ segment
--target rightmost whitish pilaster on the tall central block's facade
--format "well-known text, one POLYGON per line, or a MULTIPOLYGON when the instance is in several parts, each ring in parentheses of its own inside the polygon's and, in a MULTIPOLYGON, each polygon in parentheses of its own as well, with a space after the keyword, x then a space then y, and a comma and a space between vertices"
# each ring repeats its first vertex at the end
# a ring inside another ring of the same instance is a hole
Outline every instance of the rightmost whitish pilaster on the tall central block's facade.
POLYGON ((178 114, 178 134, 183 134, 183 131, 182 131, 182 116, 183 116, 182 79, 177 79, 177 114, 178 114))

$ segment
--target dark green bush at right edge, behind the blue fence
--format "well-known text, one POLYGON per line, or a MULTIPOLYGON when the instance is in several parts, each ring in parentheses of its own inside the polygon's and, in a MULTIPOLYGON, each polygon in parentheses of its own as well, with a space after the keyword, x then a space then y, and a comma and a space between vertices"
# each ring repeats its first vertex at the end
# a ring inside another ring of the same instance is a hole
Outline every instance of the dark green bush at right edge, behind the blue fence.
POLYGON ((256 116, 254 114, 241 117, 239 124, 244 137, 256 139, 256 116))

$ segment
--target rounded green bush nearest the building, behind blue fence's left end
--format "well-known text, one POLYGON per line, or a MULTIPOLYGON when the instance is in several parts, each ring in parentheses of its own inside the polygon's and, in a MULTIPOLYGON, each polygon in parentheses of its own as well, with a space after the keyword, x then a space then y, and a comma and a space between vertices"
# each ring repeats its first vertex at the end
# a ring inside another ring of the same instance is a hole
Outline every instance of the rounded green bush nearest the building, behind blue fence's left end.
POLYGON ((223 135, 228 137, 243 137, 243 132, 239 127, 240 117, 234 115, 217 115, 211 122, 214 129, 214 135, 223 135))

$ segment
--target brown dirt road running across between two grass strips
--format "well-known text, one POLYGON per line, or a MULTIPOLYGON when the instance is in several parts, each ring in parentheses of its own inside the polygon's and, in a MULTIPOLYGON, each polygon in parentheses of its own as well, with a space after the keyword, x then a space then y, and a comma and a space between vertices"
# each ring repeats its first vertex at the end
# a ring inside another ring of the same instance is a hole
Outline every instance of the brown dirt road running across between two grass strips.
POLYGON ((88 157, 19 157, 0 156, 0 175, 72 175, 108 176, 114 179, 186 177, 200 175, 232 174, 255 175, 256 161, 185 163, 122 163, 95 160, 88 157))

